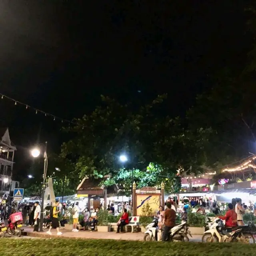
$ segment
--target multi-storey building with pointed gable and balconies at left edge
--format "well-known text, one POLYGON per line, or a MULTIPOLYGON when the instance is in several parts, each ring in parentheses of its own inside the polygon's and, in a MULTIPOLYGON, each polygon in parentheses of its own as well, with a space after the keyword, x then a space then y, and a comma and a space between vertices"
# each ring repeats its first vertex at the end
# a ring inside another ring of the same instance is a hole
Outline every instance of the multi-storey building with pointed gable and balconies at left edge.
POLYGON ((12 180, 15 151, 8 128, 0 128, 0 197, 8 197, 19 186, 18 182, 12 180))

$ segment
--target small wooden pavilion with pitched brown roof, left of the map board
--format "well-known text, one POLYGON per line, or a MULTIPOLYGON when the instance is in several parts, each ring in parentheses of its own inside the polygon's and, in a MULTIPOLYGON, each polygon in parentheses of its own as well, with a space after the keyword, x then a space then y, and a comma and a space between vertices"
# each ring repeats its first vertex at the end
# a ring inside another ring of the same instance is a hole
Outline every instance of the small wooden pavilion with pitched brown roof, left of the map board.
POLYGON ((82 182, 77 187, 77 194, 88 195, 88 208, 90 209, 90 198, 94 197, 93 207, 100 206, 100 200, 98 198, 104 197, 104 209, 107 207, 107 195, 114 195, 118 193, 118 186, 116 184, 112 186, 100 186, 100 183, 104 181, 108 176, 102 179, 84 177, 82 182))

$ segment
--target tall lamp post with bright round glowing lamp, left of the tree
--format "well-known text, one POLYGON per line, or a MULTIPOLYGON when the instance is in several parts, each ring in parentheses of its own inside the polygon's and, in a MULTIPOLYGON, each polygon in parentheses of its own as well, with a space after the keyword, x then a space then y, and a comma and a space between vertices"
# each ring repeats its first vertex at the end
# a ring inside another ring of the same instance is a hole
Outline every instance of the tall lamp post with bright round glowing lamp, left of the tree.
MULTIPOLYGON (((45 186, 46 186, 46 172, 47 172, 47 166, 48 166, 46 150, 47 150, 47 141, 45 142, 45 146, 44 146, 44 175, 43 175, 43 185, 42 185, 42 205, 41 205, 41 213, 40 213, 40 232, 43 231, 43 223, 44 223, 44 192, 45 192, 45 186)), ((40 156, 40 150, 38 148, 34 148, 31 151, 31 155, 35 158, 40 156)))

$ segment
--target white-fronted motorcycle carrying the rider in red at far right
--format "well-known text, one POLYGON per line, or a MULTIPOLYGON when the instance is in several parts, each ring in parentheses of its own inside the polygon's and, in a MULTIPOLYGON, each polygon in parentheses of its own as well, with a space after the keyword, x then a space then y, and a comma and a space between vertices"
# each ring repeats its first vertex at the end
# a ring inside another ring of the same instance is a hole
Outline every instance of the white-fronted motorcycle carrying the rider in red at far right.
POLYGON ((253 234, 255 233, 255 226, 248 222, 247 226, 236 226, 226 230, 225 221, 217 218, 210 226, 209 230, 204 232, 202 242, 247 242, 255 243, 253 234))

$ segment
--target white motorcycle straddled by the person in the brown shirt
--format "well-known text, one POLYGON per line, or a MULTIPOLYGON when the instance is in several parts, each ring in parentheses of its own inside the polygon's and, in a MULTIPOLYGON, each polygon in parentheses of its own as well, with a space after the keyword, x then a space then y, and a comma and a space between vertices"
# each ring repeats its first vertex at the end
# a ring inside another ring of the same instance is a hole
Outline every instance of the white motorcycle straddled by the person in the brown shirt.
MULTIPOLYGON (((146 226, 146 231, 144 232, 144 241, 160 241, 162 240, 162 232, 158 229, 158 219, 155 218, 152 223, 146 226)), ((190 230, 186 222, 177 224, 170 230, 170 240, 174 242, 186 241, 189 242, 188 235, 190 230)), ((192 236, 191 236, 192 237, 192 236)))

